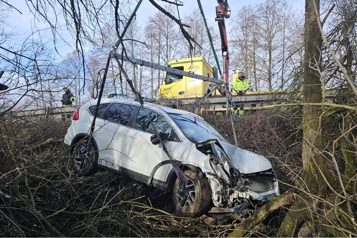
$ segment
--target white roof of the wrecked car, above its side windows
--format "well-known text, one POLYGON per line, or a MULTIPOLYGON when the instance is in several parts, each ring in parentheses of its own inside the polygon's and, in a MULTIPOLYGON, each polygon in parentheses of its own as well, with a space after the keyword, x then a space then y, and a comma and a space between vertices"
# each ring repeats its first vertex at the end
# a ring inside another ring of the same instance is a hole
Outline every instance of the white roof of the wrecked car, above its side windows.
MULTIPOLYGON (((95 100, 97 101, 97 100, 95 100)), ((93 105, 92 100, 90 100, 89 102, 91 102, 90 104, 93 105)), ((138 101, 134 101, 133 98, 126 98, 126 97, 102 97, 101 102, 130 102, 130 103, 134 103, 136 105, 140 105, 140 103, 138 101)), ((165 111, 166 113, 176 113, 176 114, 181 114, 181 115, 187 115, 187 116, 193 116, 193 117, 197 117, 200 118, 202 120, 204 120, 202 117, 196 115, 195 113, 192 112, 188 112, 188 111, 184 111, 184 110, 179 110, 179 109, 175 109, 175 108, 171 108, 171 107, 166 107, 166 106, 161 106, 161 105, 157 105, 151 102, 145 102, 144 101, 144 106, 145 105, 150 105, 156 108, 160 108, 161 110, 165 111)))

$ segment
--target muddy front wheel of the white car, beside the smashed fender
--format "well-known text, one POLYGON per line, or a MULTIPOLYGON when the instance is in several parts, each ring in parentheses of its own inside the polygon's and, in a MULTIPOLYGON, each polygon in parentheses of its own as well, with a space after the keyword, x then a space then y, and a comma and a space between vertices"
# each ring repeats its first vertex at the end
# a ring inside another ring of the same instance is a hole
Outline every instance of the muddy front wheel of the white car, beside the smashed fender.
POLYGON ((183 172, 188 183, 176 178, 172 189, 172 200, 176 214, 181 217, 202 216, 211 203, 211 187, 208 179, 202 172, 193 172, 188 169, 183 172))

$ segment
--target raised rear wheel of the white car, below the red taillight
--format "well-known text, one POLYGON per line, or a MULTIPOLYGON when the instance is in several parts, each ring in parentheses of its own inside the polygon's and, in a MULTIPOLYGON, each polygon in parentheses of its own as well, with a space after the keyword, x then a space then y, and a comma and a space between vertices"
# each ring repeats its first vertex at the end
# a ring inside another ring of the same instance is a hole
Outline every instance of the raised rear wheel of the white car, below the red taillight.
POLYGON ((99 167, 96 147, 93 144, 91 147, 90 156, 86 155, 87 139, 81 140, 74 147, 72 153, 72 166, 76 174, 79 176, 91 176, 98 172, 99 167))

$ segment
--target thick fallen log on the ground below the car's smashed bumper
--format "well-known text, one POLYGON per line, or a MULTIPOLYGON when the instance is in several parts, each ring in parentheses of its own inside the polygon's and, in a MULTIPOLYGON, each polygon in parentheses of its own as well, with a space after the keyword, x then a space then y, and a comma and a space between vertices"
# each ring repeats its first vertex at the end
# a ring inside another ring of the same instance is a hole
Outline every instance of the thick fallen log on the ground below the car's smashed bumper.
POLYGON ((281 208, 287 204, 295 201, 293 192, 287 192, 279 197, 274 198, 270 202, 264 204, 253 216, 241 223, 235 231, 228 235, 228 237, 244 237, 244 234, 251 231, 259 222, 263 221, 272 211, 281 208))

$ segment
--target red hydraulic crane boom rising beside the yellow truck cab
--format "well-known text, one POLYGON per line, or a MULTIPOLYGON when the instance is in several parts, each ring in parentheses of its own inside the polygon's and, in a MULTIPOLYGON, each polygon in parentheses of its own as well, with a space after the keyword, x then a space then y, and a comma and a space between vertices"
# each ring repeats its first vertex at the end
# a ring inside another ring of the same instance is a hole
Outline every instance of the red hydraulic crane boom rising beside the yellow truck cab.
POLYGON ((222 78, 225 81, 227 92, 229 91, 229 52, 227 42, 227 32, 225 25, 225 18, 231 16, 231 9, 228 6, 227 0, 217 0, 218 6, 216 6, 216 21, 218 21, 218 28, 220 29, 222 56, 223 56, 223 71, 222 78))

